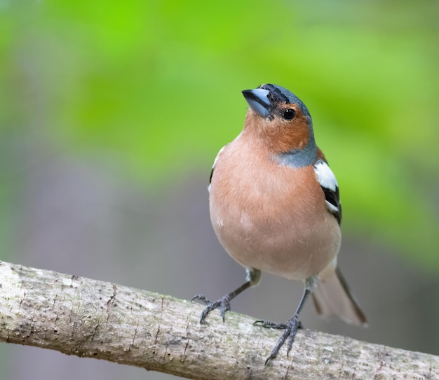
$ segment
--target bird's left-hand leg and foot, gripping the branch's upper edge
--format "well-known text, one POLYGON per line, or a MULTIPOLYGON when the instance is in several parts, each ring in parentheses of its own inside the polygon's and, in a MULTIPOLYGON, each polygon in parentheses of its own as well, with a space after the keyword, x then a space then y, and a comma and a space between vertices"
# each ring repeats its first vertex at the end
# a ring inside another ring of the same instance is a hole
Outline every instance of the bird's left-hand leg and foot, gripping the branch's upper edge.
POLYGON ((197 294, 192 297, 191 301, 200 300, 208 306, 201 312, 200 323, 203 323, 205 317, 208 316, 210 311, 218 309, 221 312, 222 321, 224 322, 226 311, 230 310, 230 301, 234 299, 239 293, 242 293, 245 289, 250 288, 250 286, 255 286, 259 283, 261 279, 261 271, 259 269, 247 269, 247 281, 243 283, 239 288, 236 288, 233 292, 223 295, 219 300, 210 301, 204 295, 197 294))

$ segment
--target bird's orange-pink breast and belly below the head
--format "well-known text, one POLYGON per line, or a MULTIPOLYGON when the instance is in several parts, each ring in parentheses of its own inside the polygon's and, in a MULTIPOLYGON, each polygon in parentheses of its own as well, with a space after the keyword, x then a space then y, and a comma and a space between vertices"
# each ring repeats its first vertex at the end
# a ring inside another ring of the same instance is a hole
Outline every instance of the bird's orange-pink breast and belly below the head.
POLYGON ((341 243, 313 167, 281 166, 264 146, 242 136, 215 164, 210 219, 237 262, 288 279, 320 273, 341 243))

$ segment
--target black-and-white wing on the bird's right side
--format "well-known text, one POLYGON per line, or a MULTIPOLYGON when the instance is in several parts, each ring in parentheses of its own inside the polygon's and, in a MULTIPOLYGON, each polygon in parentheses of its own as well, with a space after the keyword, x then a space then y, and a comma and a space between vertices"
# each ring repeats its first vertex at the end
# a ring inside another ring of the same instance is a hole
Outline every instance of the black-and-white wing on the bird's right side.
POLYGON ((339 185, 335 174, 327 162, 321 158, 314 164, 317 181, 325 194, 327 209, 337 218, 339 224, 342 222, 342 204, 340 203, 339 185))

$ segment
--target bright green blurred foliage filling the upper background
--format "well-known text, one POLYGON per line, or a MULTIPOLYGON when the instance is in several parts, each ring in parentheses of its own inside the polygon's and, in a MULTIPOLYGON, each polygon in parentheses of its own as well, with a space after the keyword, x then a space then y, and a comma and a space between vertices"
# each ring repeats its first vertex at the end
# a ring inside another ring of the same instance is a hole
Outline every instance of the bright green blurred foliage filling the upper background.
POLYGON ((240 91, 278 83, 313 114, 344 230, 439 270, 438 10, 436 1, 0 0, 4 238, 29 151, 104 162, 148 185, 194 169, 207 182, 243 125, 240 91))

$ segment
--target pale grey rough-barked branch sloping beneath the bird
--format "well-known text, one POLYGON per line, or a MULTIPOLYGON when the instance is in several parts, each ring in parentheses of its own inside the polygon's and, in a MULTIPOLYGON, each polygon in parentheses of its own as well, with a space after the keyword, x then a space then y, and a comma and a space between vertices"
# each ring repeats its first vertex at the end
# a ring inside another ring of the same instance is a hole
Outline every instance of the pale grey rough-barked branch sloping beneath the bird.
POLYGON ((279 332, 201 305, 0 261, 0 342, 109 360, 188 379, 438 379, 439 357, 300 330, 264 367, 279 332))

